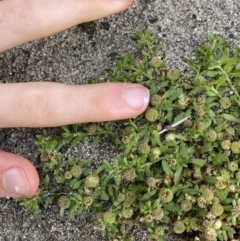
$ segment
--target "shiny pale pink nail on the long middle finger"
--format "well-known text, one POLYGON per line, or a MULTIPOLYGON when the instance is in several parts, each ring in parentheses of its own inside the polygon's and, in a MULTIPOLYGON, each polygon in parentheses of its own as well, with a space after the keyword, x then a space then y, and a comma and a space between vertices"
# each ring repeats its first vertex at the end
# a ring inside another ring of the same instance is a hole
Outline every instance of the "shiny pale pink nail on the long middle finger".
POLYGON ((144 87, 130 87, 125 90, 125 101, 134 110, 141 110, 148 105, 149 90, 144 87))

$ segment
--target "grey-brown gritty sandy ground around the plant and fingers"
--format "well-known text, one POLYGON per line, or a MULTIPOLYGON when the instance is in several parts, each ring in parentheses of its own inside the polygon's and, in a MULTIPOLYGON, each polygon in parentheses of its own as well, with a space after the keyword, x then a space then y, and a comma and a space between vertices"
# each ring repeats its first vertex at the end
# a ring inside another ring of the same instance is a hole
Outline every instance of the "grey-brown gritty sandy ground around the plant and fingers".
MULTIPOLYGON (((133 51, 131 36, 140 28, 151 29, 165 43, 167 65, 184 73, 194 48, 211 32, 239 46, 239 9, 239 0, 135 0, 131 9, 122 14, 1 53, 0 82, 82 84, 90 78, 104 79, 104 69, 113 66, 114 56, 133 51)), ((51 131, 55 133, 57 129, 51 131)), ((39 167, 39 153, 34 145, 36 133, 41 130, 2 129, 1 150, 20 154, 39 167)), ((96 150, 85 143, 74 151, 93 162, 114 155, 114 148, 104 142, 96 150), (105 147, 107 151, 103 151, 105 147)), ((67 220, 60 218, 52 206, 43 207, 42 213, 36 215, 14 200, 0 200, 0 240, 4 241, 103 241, 93 231, 93 222, 92 214, 67 220)), ((132 236, 134 240, 148 240, 144 232, 133 231, 132 236)))

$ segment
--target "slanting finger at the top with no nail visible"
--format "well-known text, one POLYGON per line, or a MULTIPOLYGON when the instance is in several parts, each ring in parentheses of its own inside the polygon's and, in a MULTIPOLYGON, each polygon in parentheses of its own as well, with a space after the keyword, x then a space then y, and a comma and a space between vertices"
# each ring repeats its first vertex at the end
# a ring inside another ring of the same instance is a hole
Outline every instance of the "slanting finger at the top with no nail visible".
POLYGON ((0 1, 0 52, 128 8, 133 0, 0 1))

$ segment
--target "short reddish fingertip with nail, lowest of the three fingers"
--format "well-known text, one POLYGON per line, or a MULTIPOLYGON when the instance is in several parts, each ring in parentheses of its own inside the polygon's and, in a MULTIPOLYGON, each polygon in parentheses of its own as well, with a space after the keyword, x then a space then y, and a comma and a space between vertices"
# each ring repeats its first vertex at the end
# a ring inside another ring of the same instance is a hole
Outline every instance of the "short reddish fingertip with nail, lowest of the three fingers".
POLYGON ((37 171, 27 159, 0 152, 0 197, 31 197, 38 184, 37 171))

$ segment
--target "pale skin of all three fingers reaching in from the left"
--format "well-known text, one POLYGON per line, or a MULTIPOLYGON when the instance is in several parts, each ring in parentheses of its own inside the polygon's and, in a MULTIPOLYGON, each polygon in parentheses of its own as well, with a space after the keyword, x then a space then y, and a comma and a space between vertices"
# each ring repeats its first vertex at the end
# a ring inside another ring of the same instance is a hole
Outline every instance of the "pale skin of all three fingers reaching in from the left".
MULTIPOLYGON (((0 52, 124 11, 133 0, 0 0, 0 52)), ((79 76, 81 78, 81 76, 79 76)), ((149 91, 136 84, 0 84, 0 128, 53 127, 141 114, 149 91), (91 111, 89 111, 91 109, 91 111)), ((0 152, 0 197, 31 197, 39 177, 24 157, 0 152)))

